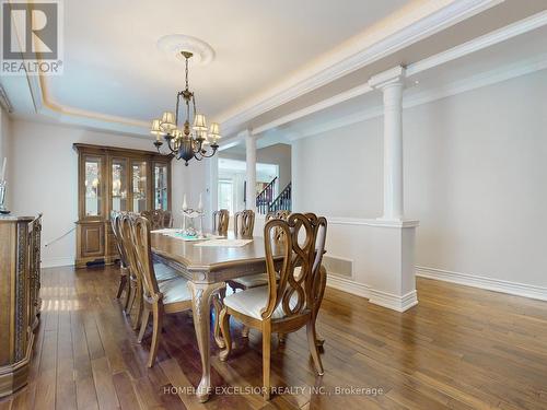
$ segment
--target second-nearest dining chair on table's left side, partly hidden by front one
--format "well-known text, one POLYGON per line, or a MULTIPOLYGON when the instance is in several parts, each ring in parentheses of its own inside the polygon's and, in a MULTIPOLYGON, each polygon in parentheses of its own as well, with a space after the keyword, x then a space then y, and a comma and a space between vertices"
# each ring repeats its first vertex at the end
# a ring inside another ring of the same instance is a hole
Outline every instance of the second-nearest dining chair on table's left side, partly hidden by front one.
MULTIPOLYGON (((139 324, 141 323, 142 311, 144 308, 142 298, 142 289, 143 289, 142 277, 140 274, 139 269, 137 269, 137 255, 131 233, 131 224, 138 218, 144 218, 144 216, 139 216, 138 214, 132 212, 125 213, 121 216, 120 229, 119 229, 121 244, 127 255, 127 261, 129 268, 129 297, 126 305, 127 315, 131 314, 133 305, 135 303, 137 303, 137 316, 132 324, 133 330, 138 329, 139 324)), ((165 281, 178 277, 177 272, 174 269, 161 262, 154 263, 154 272, 159 281, 165 281)))

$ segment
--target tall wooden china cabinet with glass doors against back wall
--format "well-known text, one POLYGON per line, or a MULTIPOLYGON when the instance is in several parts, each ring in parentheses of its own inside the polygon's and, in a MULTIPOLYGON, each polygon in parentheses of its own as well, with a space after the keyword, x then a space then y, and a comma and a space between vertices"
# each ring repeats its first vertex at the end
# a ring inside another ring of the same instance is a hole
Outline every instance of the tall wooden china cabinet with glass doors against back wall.
POLYGON ((78 152, 75 266, 118 259, 112 211, 171 210, 171 161, 152 151, 73 144, 78 152))

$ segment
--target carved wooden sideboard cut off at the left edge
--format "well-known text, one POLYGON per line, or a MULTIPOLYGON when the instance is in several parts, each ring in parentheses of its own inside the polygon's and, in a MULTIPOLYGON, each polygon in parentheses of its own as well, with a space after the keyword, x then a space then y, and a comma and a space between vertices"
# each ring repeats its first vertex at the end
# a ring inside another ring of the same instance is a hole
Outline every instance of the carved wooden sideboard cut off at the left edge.
POLYGON ((0 397, 25 386, 39 317, 42 216, 0 216, 0 397))

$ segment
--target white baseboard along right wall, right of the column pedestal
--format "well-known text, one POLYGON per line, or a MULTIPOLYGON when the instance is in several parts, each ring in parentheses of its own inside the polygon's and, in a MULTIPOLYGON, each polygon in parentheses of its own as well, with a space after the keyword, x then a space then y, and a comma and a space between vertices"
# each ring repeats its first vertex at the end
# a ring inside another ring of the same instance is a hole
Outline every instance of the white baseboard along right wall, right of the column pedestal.
POLYGON ((480 288, 488 291, 508 293, 515 296, 524 296, 547 301, 547 288, 536 286, 533 284, 524 284, 478 277, 468 273, 452 272, 450 270, 434 269, 427 267, 416 267, 416 276, 421 278, 435 279, 444 282, 463 284, 466 286, 480 288))

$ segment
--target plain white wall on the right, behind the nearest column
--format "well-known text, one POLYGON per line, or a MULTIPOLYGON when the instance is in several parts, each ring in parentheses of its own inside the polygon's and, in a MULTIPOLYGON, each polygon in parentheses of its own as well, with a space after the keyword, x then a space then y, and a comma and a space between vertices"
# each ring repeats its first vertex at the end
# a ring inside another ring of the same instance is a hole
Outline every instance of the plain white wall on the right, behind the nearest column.
MULTIPOLYGON (((540 71, 404 112, 405 207, 420 220, 418 266, 547 286, 546 96, 540 71)), ((295 209, 379 216, 381 136, 374 118, 296 141, 295 209), (342 154, 331 150, 340 140, 342 154)))

